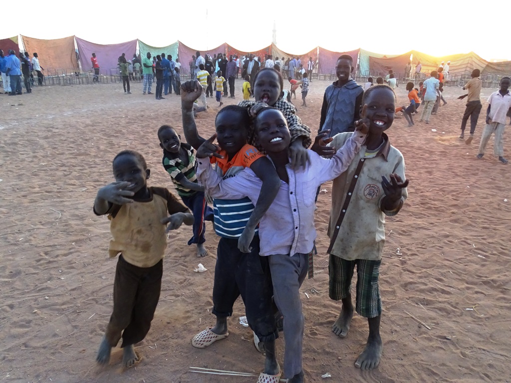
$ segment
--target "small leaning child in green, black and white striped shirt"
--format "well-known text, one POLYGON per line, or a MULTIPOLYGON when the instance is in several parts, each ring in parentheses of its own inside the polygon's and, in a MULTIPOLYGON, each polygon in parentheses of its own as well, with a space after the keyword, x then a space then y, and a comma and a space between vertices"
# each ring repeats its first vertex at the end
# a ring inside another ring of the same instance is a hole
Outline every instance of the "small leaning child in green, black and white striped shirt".
POLYGON ((193 236, 188 245, 196 244, 197 256, 205 257, 207 250, 204 247, 206 242, 204 221, 213 221, 213 210, 207 206, 204 199, 204 186, 197 183, 193 149, 188 143, 181 142, 179 135, 169 125, 160 126, 158 139, 163 149, 163 166, 172 177, 177 194, 193 213, 193 236))

